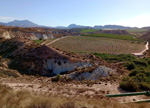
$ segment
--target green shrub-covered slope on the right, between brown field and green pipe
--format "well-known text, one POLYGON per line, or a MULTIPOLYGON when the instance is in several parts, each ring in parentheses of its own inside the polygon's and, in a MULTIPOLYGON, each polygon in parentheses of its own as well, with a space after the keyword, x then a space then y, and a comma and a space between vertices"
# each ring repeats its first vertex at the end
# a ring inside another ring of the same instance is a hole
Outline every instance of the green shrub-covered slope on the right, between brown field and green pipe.
POLYGON ((136 58, 133 55, 110 55, 94 53, 108 62, 122 62, 129 75, 122 78, 120 87, 126 91, 150 90, 150 58, 136 58))

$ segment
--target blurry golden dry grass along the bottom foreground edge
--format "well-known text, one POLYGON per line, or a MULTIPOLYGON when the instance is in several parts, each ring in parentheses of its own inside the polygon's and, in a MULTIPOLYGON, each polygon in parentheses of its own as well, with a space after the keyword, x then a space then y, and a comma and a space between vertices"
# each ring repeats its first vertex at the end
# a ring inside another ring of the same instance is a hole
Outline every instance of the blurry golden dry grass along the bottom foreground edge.
POLYGON ((35 95, 26 90, 14 92, 0 85, 0 108, 149 108, 149 104, 120 104, 113 99, 98 97, 35 95))

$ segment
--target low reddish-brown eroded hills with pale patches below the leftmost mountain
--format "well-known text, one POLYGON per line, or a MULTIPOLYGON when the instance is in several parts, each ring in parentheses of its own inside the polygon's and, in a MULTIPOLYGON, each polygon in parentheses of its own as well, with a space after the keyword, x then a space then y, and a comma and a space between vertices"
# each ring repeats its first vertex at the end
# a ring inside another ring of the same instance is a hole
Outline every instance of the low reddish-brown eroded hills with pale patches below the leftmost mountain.
POLYGON ((12 27, 0 25, 0 38, 11 39, 25 37, 31 40, 59 38, 68 35, 78 35, 74 30, 57 30, 40 27, 12 27))

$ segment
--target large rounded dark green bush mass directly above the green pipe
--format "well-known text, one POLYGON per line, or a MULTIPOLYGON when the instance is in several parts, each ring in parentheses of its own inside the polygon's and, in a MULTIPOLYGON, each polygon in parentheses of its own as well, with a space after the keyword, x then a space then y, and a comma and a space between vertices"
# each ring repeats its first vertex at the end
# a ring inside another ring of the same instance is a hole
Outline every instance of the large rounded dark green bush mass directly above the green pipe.
POLYGON ((150 72, 145 69, 135 69, 125 76, 120 87, 127 91, 150 90, 150 72))

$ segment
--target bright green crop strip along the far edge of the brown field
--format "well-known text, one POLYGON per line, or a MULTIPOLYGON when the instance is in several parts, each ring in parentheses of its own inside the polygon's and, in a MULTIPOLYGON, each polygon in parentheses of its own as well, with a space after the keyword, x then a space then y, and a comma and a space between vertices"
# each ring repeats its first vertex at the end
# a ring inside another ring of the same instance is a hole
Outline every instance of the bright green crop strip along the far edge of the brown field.
POLYGON ((132 40, 137 41, 138 39, 133 38, 132 35, 117 35, 117 34, 87 34, 82 36, 91 36, 91 37, 104 37, 104 38, 113 38, 113 39, 123 39, 123 40, 132 40))

